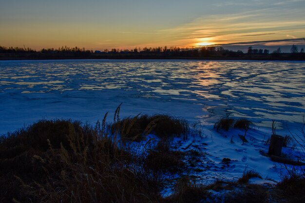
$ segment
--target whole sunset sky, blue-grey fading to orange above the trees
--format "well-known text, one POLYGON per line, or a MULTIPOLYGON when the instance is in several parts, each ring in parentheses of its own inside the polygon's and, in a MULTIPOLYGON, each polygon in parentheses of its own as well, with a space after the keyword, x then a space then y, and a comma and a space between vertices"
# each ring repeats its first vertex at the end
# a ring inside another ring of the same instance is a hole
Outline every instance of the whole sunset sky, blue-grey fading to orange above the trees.
POLYGON ((0 45, 305 48, 305 0, 0 0, 0 45))

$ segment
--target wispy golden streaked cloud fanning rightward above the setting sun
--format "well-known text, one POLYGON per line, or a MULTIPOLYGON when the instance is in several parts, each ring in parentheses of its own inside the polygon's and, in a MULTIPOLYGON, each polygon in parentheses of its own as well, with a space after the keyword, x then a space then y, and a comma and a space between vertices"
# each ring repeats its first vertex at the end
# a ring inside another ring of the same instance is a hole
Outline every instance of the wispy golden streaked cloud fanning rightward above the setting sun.
POLYGON ((206 42, 207 38, 213 44, 303 43, 300 38, 305 35, 305 19, 299 18, 302 15, 304 11, 298 8, 263 8, 205 15, 160 32, 176 38, 174 43, 180 46, 196 46, 206 42))

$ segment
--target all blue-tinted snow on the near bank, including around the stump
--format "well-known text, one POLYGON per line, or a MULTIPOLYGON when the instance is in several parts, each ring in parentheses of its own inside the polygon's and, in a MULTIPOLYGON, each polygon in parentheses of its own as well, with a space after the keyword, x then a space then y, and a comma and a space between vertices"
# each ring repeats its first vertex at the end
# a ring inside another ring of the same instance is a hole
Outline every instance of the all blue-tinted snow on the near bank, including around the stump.
MULTIPOLYGON (((269 143, 267 140, 272 134, 272 131, 267 128, 250 128, 246 135, 248 142, 244 144, 239 136, 243 136, 245 133, 242 129, 231 128, 229 131, 220 130, 217 132, 213 125, 205 125, 200 129, 202 130, 201 136, 198 135, 197 131, 197 133, 189 134, 187 140, 175 138, 172 142, 174 150, 186 153, 196 152, 195 161, 194 157, 185 159, 189 167, 184 174, 192 176, 197 183, 211 184, 215 180, 234 182, 241 178, 245 172, 255 171, 261 178, 251 180, 253 184, 276 184, 287 175, 287 168, 305 170, 305 166, 277 163, 272 161, 270 157, 263 155, 268 152, 269 143)), ((299 135, 304 136, 300 133, 299 135)), ((293 139, 292 135, 290 136, 293 139)), ((153 135, 150 135, 146 141, 151 138, 154 138, 156 142, 159 141, 153 135)), ((141 148, 146 141, 133 145, 135 148, 141 148)), ((282 156, 305 162, 304 151, 295 140, 291 140, 288 146, 282 149, 282 156)))

